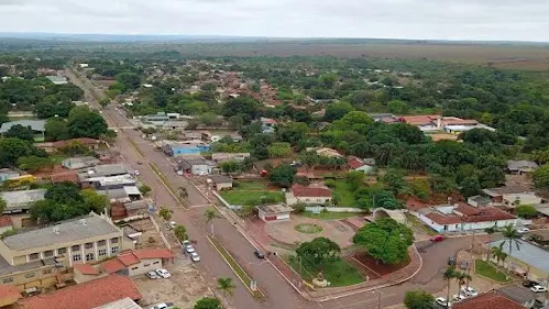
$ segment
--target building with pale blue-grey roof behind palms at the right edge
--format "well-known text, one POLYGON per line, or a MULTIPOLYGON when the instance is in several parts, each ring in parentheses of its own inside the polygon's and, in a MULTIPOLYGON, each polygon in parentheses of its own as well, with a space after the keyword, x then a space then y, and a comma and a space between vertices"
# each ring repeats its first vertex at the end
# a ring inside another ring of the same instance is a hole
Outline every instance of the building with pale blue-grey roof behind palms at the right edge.
POLYGON ((505 240, 493 241, 488 246, 495 247, 502 243, 504 243, 502 250, 507 254, 505 264, 510 263, 510 271, 538 283, 545 283, 549 278, 549 263, 547 263, 549 251, 525 240, 517 240, 517 244, 513 244, 510 254, 508 242, 505 240))

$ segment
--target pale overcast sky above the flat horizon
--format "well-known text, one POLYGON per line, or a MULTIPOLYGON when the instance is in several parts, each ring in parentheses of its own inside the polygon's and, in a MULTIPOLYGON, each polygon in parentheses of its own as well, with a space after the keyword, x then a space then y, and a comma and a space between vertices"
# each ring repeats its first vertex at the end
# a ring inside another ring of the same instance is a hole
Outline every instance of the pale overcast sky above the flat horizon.
POLYGON ((549 0, 0 0, 0 31, 549 42, 549 0))

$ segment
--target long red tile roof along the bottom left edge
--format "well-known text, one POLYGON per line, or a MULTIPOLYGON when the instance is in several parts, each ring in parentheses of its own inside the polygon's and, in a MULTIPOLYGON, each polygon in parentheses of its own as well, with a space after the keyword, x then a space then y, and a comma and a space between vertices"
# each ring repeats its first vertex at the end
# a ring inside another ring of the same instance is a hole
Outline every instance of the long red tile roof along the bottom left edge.
POLYGON ((141 299, 138 287, 127 276, 109 275, 21 300, 24 309, 92 309, 122 298, 141 299))

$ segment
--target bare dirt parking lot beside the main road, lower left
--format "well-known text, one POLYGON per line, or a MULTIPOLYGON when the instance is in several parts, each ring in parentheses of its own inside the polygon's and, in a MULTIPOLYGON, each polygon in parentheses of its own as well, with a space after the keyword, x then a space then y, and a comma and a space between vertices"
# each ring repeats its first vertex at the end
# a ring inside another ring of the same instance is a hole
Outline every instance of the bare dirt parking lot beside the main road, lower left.
POLYGON ((172 301, 180 309, 190 309, 198 299, 212 296, 205 279, 191 264, 187 257, 176 255, 174 264, 165 266, 172 277, 154 280, 144 275, 135 277, 135 285, 143 295, 142 304, 145 305, 143 308, 172 301))

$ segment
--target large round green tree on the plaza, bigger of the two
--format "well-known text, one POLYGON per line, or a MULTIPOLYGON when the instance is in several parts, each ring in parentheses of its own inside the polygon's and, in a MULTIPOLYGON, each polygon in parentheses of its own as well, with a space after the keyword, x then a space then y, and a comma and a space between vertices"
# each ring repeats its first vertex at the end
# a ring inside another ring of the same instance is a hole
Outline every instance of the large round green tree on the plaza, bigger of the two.
POLYGON ((353 236, 353 243, 365 247, 369 255, 384 264, 406 261, 413 241, 411 230, 389 218, 364 225, 353 236))

